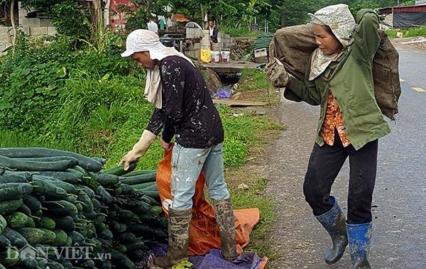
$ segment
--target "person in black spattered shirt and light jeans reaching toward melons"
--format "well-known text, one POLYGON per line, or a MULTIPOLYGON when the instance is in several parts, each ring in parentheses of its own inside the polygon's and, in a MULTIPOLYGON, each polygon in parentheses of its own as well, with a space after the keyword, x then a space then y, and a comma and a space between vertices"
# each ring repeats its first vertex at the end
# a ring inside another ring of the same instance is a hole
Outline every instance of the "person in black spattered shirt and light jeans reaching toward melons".
POLYGON ((138 66, 146 68, 144 96, 155 106, 141 138, 120 162, 124 170, 146 153, 161 130, 162 148, 172 150, 170 142, 173 137, 176 140, 171 160, 169 247, 166 256, 155 258, 155 265, 169 268, 187 259, 192 196, 200 172, 212 199, 222 256, 236 260, 235 216, 224 180, 224 129, 200 70, 183 53, 165 47, 158 35, 147 30, 131 32, 121 56, 131 56, 138 66))

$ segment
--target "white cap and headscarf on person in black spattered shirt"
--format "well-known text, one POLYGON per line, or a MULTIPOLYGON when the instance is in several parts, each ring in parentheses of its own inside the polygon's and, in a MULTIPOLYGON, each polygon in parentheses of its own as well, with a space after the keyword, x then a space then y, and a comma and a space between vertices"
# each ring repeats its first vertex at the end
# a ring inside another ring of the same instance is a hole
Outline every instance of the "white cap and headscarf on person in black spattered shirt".
MULTIPOLYGON (((145 29, 138 29, 129 33, 126 39, 126 51, 121 53, 121 57, 129 57, 133 53, 143 51, 149 52, 151 60, 163 60, 168 56, 179 56, 195 66, 192 60, 183 53, 178 52, 175 48, 169 48, 160 43, 160 38, 156 33, 145 29)), ((146 72, 146 84, 143 97, 156 108, 161 109, 162 92, 163 85, 160 79, 160 67, 155 65, 153 70, 148 69, 146 72)))

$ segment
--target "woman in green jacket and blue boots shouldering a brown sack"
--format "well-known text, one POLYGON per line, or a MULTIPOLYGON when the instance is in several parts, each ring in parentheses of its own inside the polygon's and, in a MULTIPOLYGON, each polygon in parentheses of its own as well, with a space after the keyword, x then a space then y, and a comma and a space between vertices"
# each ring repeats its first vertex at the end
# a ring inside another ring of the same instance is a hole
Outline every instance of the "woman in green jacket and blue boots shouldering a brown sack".
POLYGON ((373 89, 379 18, 372 9, 361 9, 356 24, 346 4, 327 6, 309 15, 318 48, 312 53, 305 79, 289 75, 276 58, 266 66, 266 75, 275 87, 285 87, 286 99, 321 106, 303 192, 314 216, 332 238, 325 262, 332 264, 342 258, 349 241, 352 268, 371 268, 368 251, 378 138, 391 132, 373 89), (348 157, 346 219, 330 192, 348 157))

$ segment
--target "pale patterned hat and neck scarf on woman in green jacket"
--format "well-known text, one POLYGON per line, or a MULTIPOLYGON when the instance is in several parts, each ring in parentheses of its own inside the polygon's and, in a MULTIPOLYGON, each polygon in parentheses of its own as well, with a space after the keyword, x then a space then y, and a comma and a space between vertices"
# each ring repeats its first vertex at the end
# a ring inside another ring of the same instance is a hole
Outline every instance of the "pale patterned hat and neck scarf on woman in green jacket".
MULTIPOLYGON (((312 24, 329 26, 334 36, 342 43, 344 48, 354 42, 352 34, 355 31, 356 23, 354 16, 352 16, 346 4, 326 6, 315 12, 315 14, 308 13, 308 15, 311 17, 312 24)), ((313 80, 321 75, 337 55, 337 53, 325 55, 322 53, 322 50, 317 48, 312 54, 309 80, 313 80)))

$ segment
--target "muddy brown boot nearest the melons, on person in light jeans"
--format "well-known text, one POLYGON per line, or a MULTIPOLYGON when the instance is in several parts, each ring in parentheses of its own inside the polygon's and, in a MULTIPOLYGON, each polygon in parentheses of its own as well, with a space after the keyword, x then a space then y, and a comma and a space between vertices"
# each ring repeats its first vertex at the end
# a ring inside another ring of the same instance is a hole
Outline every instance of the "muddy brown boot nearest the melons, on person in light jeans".
POLYGON ((168 216, 168 251, 165 256, 154 259, 160 268, 169 268, 182 260, 187 260, 190 238, 192 209, 176 210, 169 207, 168 216))

